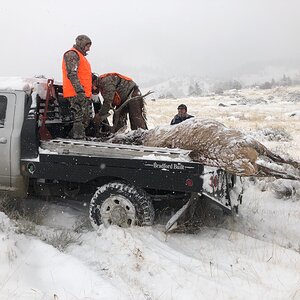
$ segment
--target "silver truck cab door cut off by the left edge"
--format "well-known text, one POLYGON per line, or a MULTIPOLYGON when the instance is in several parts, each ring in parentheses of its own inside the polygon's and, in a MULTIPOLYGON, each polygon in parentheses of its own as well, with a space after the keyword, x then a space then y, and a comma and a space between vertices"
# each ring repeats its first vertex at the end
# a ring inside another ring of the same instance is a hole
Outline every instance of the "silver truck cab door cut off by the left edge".
POLYGON ((0 93, 0 190, 11 187, 11 136, 16 95, 0 93))

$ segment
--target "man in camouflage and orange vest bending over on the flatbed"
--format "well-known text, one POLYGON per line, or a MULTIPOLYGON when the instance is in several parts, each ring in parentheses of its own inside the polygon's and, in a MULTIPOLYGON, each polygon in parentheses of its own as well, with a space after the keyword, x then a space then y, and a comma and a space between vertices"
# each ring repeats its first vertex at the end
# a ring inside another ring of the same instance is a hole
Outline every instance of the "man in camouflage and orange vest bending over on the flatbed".
MULTIPOLYGON (((98 77, 93 76, 93 94, 98 94, 99 92, 103 97, 103 105, 95 118, 96 120, 98 119, 98 122, 105 120, 111 107, 118 108, 128 98, 142 95, 139 87, 131 78, 119 73, 106 73, 98 77)), ((115 132, 126 125, 127 114, 129 114, 132 130, 138 128, 148 129, 145 103, 142 97, 132 100, 122 109, 114 130, 115 132)))

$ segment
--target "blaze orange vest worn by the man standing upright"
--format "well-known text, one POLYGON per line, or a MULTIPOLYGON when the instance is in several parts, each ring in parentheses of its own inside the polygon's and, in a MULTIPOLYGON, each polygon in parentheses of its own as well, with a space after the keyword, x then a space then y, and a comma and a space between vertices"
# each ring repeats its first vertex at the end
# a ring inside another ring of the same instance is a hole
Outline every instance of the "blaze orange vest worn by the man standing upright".
MULTIPOLYGON (((78 65, 78 79, 81 85, 84 88, 85 95, 90 98, 92 96, 92 71, 91 65, 85 56, 75 48, 70 49, 71 51, 75 51, 79 56, 79 65, 78 65)), ((69 50, 69 51, 70 51, 69 50)), ((63 59, 62 63, 62 71, 63 71, 63 94, 64 98, 74 97, 77 93, 74 90, 74 87, 67 76, 67 68, 65 59, 63 59)))

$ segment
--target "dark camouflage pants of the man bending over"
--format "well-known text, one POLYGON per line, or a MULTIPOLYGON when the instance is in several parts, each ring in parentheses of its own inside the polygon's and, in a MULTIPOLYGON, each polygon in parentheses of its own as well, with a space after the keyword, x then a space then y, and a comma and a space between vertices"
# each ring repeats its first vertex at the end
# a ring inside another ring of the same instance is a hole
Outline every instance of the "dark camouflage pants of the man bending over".
MULTIPOLYGON (((135 87, 129 94, 128 98, 133 98, 141 95, 142 94, 139 88, 135 87)), ((127 114, 129 114, 131 130, 135 130, 138 128, 148 129, 146 122, 145 103, 143 97, 137 98, 136 100, 132 100, 128 103, 128 105, 126 105, 122 109, 115 131, 118 131, 120 128, 127 124, 127 114)))

